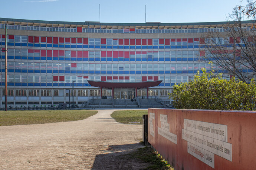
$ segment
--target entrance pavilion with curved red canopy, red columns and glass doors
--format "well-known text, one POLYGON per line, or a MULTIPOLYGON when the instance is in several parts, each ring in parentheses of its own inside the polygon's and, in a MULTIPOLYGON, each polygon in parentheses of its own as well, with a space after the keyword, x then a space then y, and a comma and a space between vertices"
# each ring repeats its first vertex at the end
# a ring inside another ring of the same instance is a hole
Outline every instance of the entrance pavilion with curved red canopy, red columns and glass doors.
POLYGON ((113 99, 134 99, 137 97, 137 89, 147 88, 147 98, 148 98, 148 88, 158 86, 162 80, 159 81, 146 81, 146 82, 105 82, 105 81, 91 81, 88 83, 91 86, 101 88, 101 98, 102 98, 102 88, 112 89, 113 99), (114 91, 116 89, 116 91, 114 91))

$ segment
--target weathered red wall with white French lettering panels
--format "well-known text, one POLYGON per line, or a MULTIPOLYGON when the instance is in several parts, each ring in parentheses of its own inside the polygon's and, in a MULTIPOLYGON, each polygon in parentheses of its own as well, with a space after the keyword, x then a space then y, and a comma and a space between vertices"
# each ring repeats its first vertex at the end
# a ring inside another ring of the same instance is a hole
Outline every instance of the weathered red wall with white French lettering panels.
POLYGON ((148 141, 175 170, 255 169, 256 112, 148 109, 148 141))

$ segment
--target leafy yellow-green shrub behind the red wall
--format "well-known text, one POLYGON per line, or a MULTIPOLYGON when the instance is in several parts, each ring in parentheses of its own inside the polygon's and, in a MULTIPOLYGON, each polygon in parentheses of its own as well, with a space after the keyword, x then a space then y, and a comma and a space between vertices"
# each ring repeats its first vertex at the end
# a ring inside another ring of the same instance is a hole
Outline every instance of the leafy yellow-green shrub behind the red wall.
POLYGON ((202 69, 193 81, 173 86, 173 105, 177 109, 214 109, 214 110, 256 110, 256 82, 223 79, 221 74, 213 76, 202 69))

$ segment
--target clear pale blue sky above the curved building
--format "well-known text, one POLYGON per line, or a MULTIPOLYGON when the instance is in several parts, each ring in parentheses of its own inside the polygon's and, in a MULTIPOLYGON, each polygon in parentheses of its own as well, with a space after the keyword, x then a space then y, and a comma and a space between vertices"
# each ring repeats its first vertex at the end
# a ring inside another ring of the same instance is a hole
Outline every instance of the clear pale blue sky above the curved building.
POLYGON ((226 21, 243 0, 1 0, 0 17, 102 23, 226 21))

